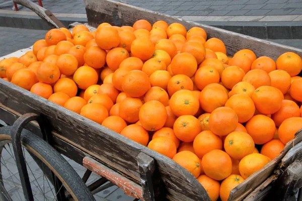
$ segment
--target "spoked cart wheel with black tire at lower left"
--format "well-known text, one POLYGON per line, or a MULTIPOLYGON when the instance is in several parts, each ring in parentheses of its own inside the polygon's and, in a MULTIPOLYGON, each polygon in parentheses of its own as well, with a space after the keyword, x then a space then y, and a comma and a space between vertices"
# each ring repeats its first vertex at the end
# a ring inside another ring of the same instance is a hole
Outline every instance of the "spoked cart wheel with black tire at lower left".
MULTIPOLYGON (((10 130, 11 126, 0 127, 0 200, 25 200, 10 130)), ((25 129, 21 142, 34 200, 95 200, 77 172, 47 142, 25 129)))

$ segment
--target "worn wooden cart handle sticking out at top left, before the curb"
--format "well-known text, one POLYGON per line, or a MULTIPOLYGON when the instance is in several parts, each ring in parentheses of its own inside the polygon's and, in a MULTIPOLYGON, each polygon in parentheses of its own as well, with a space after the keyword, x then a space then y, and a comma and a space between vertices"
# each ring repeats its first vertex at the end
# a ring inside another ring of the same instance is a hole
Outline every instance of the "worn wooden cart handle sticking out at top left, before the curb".
POLYGON ((28 0, 13 0, 14 3, 20 4, 26 8, 29 8, 35 12, 40 18, 46 21, 51 27, 61 28, 65 26, 47 9, 38 6, 37 4, 30 2, 28 0))

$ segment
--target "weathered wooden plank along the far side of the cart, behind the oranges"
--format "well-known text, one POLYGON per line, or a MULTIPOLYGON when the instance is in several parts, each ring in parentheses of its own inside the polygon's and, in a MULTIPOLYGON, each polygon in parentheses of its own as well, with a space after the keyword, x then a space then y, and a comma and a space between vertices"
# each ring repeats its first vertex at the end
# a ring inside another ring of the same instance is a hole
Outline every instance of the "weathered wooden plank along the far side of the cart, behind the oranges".
POLYGON ((156 21, 164 20, 168 24, 181 23, 187 30, 192 27, 203 28, 206 31, 208 38, 215 37, 224 42, 229 55, 233 55, 240 49, 248 48, 253 50, 258 57, 269 56, 276 59, 285 52, 295 52, 302 56, 302 50, 297 48, 279 45, 199 23, 187 22, 182 19, 119 2, 117 3, 110 0, 84 0, 84 2, 86 4, 88 23, 93 27, 97 27, 103 22, 116 26, 132 26, 135 21, 141 19, 147 20, 152 24, 156 21))

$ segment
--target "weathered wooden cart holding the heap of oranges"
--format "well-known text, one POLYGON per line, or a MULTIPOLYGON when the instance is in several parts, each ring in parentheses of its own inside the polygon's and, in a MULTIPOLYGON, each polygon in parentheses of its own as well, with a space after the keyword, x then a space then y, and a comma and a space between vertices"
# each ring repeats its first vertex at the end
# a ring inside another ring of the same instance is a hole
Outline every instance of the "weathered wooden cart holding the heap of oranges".
MULTIPOLYGON (((32 7, 31 4, 20 0, 15 2, 31 8, 50 25, 60 26, 55 19, 49 18, 45 9, 32 7)), ((96 30, 103 22, 115 26, 132 26, 140 19, 150 23, 164 20, 168 24, 181 23, 186 29, 203 28, 209 38, 221 39, 230 55, 248 48, 253 50, 257 57, 269 56, 276 59, 285 52, 295 52, 302 56, 300 49, 183 21, 123 3, 109 0, 84 2, 88 17, 87 26, 90 30, 96 30)), ((70 28, 76 24, 70 25, 70 28)), ((19 50, 0 60, 13 55, 19 56, 18 54, 24 54, 30 49, 19 50)), ((170 158, 0 79, 0 119, 8 125, 13 125, 20 116, 27 113, 37 114, 40 126, 43 125, 44 130, 47 128, 47 131, 51 131, 51 145, 59 153, 106 177, 128 195, 143 200, 209 200, 197 179, 170 158)), ((26 116, 22 118, 33 120, 26 116)), ((26 129, 37 135, 41 133, 36 122, 27 124, 26 129)), ((299 131, 277 158, 234 188, 229 200, 295 199, 298 189, 302 186, 301 140, 302 131, 299 131)))

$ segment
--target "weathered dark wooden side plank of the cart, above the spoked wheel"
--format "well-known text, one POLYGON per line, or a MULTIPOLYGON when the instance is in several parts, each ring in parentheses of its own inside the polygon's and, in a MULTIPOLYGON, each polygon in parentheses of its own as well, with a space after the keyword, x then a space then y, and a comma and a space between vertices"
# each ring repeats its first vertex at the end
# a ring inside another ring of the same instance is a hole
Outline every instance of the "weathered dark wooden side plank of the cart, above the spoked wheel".
POLYGON ((136 157, 140 152, 149 155, 156 160, 168 199, 209 199, 197 179, 170 158, 2 79, 0 104, 21 115, 30 112, 42 115, 56 137, 98 158, 133 181, 140 181, 136 157))

